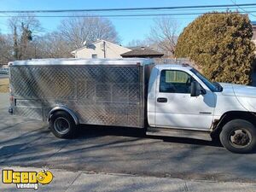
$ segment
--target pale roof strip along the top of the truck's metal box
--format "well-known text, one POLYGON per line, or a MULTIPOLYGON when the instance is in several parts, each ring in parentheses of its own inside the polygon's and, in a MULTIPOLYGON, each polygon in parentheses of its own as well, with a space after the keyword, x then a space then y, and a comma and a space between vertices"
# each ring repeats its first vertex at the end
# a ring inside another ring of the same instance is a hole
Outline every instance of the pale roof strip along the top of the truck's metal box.
POLYGON ((143 58, 129 58, 129 59, 78 59, 78 58, 63 58, 63 59, 32 59, 26 61, 12 61, 9 65, 23 66, 23 65, 150 65, 154 61, 143 58))

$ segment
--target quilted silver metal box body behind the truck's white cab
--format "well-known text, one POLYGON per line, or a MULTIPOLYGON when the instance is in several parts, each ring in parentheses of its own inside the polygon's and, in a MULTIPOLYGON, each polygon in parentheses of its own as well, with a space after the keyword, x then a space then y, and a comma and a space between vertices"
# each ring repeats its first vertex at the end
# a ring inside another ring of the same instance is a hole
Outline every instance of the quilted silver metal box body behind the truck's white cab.
POLYGON ((52 108, 80 124, 144 127, 153 61, 34 60, 9 63, 13 113, 46 121, 52 108))

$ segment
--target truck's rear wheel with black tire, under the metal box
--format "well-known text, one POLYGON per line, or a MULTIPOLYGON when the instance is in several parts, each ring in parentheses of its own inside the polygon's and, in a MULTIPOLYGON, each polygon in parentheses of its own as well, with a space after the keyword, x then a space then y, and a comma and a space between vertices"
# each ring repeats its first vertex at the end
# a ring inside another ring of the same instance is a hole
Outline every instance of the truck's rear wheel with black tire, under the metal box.
POLYGON ((49 120, 50 131, 59 138, 73 138, 76 135, 76 125, 71 115, 64 111, 53 113, 49 120))

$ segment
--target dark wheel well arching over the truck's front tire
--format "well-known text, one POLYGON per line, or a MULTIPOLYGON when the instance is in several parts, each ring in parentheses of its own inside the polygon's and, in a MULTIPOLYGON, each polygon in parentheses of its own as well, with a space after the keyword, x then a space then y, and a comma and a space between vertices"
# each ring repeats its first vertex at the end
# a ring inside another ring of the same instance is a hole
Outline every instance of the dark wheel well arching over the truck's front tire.
POLYGON ((222 131, 223 126, 233 119, 244 119, 256 126, 256 113, 231 111, 224 113, 221 118, 214 123, 212 127, 212 136, 218 136, 219 133, 222 131))

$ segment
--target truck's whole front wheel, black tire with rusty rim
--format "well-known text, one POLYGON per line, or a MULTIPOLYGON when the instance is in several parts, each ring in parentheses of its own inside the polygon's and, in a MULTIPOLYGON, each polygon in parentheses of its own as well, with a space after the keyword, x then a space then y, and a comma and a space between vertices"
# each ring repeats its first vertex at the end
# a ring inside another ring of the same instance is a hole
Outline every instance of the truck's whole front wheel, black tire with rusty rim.
POLYGON ((233 153, 251 153, 256 148, 256 128, 244 119, 230 120, 224 125, 219 139, 224 148, 233 153))

